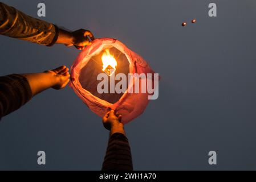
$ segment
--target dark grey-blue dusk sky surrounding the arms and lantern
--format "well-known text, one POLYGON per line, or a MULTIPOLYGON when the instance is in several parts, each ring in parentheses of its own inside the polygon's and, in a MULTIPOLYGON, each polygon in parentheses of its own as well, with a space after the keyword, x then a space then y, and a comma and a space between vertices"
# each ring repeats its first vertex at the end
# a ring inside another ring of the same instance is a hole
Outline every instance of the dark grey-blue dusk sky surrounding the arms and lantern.
MULTIPOLYGON (((44 2, 42 19, 119 39, 160 73, 159 99, 125 126, 135 169, 256 169, 256 1, 2 2, 31 16, 44 2)), ((79 53, 4 36, 0 44, 1 75, 70 67, 79 53)), ((97 170, 107 142, 101 118, 71 88, 49 89, 0 122, 0 169, 97 170)))

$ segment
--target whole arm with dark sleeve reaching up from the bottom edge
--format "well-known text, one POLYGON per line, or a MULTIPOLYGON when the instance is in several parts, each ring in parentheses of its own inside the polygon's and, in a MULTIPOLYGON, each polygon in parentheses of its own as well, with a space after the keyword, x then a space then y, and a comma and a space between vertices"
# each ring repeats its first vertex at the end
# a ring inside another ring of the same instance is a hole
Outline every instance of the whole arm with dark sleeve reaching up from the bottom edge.
POLYGON ((102 171, 132 171, 132 155, 129 142, 125 136, 121 115, 114 110, 103 117, 103 125, 109 130, 109 141, 102 171))

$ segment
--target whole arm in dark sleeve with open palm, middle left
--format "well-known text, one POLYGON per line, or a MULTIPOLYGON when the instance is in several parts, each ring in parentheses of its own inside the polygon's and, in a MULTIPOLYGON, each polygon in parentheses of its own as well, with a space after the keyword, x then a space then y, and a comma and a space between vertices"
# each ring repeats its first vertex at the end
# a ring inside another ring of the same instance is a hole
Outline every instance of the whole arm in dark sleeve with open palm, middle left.
POLYGON ((44 73, 0 77, 0 119, 19 109, 32 96, 47 88, 63 88, 70 77, 67 71, 66 67, 60 67, 44 73))

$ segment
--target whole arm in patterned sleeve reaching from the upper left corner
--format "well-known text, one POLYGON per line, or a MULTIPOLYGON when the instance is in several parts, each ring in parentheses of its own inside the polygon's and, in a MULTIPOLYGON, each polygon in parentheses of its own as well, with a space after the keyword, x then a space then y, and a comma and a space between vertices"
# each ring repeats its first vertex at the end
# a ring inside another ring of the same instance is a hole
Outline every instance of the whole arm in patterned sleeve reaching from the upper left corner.
POLYGON ((88 36, 94 40, 94 36, 88 30, 64 31, 52 23, 32 18, 2 2, 0 2, 0 34, 44 46, 58 43, 75 46, 78 49, 90 45, 88 36))

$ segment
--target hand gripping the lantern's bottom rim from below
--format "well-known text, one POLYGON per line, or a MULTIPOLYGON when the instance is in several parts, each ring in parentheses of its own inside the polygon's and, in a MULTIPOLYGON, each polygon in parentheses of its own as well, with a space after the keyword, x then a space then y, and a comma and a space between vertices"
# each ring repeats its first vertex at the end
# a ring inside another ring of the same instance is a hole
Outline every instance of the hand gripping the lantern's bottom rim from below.
POLYGON ((123 130, 123 123, 121 123, 122 116, 119 113, 115 113, 114 110, 108 111, 107 114, 104 115, 102 121, 105 129, 107 130, 123 130))

